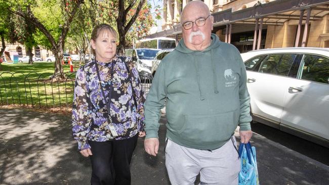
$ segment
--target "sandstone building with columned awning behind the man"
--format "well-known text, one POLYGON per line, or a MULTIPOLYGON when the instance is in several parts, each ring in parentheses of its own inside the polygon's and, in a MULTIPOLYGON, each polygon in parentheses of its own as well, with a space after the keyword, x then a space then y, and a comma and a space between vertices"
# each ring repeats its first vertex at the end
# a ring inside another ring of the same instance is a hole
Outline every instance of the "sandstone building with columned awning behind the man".
MULTIPOLYGON (((162 31, 181 39, 180 14, 190 0, 163 0, 162 31)), ((329 48, 329 2, 323 0, 205 0, 222 41, 241 53, 264 48, 329 48)))

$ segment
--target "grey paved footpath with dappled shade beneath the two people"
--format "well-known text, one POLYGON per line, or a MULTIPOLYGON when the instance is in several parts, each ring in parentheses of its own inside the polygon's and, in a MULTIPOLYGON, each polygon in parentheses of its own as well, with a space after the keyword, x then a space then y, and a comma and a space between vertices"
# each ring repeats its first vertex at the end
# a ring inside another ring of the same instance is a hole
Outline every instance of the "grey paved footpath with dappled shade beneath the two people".
MULTIPOLYGON (((163 153, 165 114, 157 157, 139 138, 132 160, 132 184, 170 184, 163 153)), ((329 184, 329 167, 254 134, 261 184, 329 184)), ((76 150, 69 115, 0 108, 0 184, 90 184, 88 158, 76 150)))

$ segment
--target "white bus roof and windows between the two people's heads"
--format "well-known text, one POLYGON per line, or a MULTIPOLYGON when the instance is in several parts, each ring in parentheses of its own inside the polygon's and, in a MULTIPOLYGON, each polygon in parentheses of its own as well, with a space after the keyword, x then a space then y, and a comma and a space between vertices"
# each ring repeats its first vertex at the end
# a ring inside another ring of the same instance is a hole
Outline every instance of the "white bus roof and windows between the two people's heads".
POLYGON ((136 41, 135 48, 149 48, 149 49, 173 49, 176 48, 176 40, 174 38, 157 37, 145 38, 136 41))

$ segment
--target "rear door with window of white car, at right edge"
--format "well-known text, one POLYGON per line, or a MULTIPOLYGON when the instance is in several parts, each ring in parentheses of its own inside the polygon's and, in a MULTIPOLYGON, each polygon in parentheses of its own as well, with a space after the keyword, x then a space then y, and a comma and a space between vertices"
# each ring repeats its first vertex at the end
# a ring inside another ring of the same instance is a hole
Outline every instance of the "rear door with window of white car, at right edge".
POLYGON ((307 54, 287 81, 281 123, 329 140, 329 58, 307 54))

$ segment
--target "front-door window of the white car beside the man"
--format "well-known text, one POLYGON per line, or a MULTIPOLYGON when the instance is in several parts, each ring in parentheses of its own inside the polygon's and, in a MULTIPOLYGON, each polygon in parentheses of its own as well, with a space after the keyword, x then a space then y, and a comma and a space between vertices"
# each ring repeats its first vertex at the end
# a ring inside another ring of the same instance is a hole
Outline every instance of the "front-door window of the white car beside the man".
POLYGON ((297 54, 268 55, 259 68, 259 72, 287 76, 297 54))

